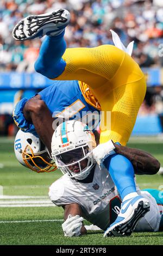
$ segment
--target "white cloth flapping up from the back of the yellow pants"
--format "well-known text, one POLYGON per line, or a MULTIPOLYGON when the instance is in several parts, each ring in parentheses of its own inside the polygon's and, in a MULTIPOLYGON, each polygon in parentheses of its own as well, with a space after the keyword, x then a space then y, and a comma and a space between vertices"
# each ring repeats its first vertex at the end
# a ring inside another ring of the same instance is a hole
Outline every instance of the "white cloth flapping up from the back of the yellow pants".
POLYGON ((134 41, 131 41, 129 43, 129 45, 127 46, 127 48, 123 45, 120 37, 117 35, 117 33, 115 33, 114 31, 112 31, 112 29, 110 29, 110 32, 112 34, 112 41, 114 42, 114 45, 121 49, 124 52, 127 52, 130 56, 133 52, 133 47, 134 47, 134 41))

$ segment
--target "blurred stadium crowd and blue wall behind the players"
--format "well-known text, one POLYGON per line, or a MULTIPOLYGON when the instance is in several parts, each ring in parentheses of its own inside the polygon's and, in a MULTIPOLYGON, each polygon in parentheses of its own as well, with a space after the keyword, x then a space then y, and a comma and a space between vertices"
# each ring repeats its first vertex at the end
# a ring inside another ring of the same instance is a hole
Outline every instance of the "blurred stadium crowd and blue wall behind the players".
POLYGON ((1 0, 0 6, 0 135, 13 136, 14 103, 52 81, 34 72, 40 39, 16 41, 11 32, 22 17, 58 8, 71 12, 67 47, 112 44, 113 29, 124 45, 135 41, 133 58, 147 76, 148 89, 134 135, 158 135, 163 127, 163 2, 162 0, 1 0))

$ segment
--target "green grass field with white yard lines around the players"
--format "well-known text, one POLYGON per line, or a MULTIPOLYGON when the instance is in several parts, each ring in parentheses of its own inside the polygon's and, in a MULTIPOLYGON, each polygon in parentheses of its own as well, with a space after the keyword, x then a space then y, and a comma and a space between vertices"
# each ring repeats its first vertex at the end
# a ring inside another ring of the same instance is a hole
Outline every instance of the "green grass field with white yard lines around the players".
MULTIPOLYGON (((148 151, 163 166, 162 138, 131 138, 128 146, 148 151)), ((0 137, 0 195, 6 196, 0 196, 0 245, 163 245, 163 232, 104 239, 103 231, 88 231, 87 236, 64 237, 63 210, 48 201, 48 187, 60 176, 59 171, 37 174, 22 167, 13 139, 0 137)), ((159 189, 163 175, 137 176, 137 183, 159 189)))

